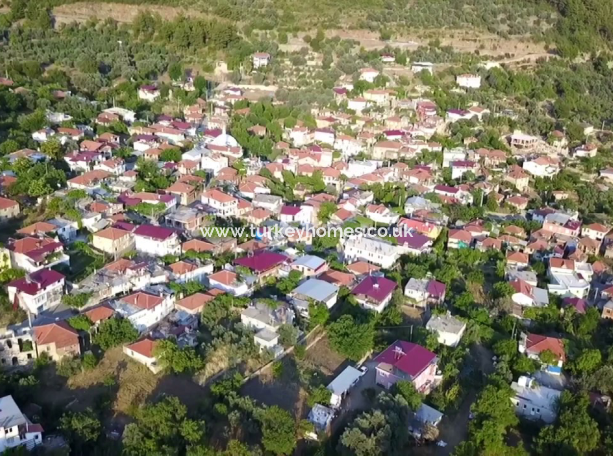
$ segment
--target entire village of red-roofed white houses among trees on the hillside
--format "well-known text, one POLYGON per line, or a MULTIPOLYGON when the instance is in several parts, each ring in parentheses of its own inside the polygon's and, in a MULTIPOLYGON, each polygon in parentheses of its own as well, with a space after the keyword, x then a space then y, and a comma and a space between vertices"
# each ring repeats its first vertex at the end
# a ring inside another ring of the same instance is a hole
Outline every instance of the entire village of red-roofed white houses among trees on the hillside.
MULTIPOLYGON (((380 59, 396 64, 393 53, 380 59)), ((253 53, 251 64, 265 72, 273 56, 253 53)), ((437 71, 427 61, 409 69, 437 71)), ((306 445, 342 434, 351 447, 348 417, 390 392, 411 406, 410 445, 450 454, 468 436, 478 386, 504 363, 516 416, 554 424, 564 392, 600 367, 599 353, 583 370, 593 349, 566 339, 613 319, 611 218, 588 214, 574 191, 610 191, 613 167, 584 169, 609 148, 587 123, 579 141, 565 129, 485 141, 486 124, 517 117, 479 103, 489 70, 455 75, 466 109, 443 110, 427 88, 408 94, 364 67, 309 112, 230 83, 154 118, 120 104, 88 124, 47 110, 31 132, 36 147, 3 157, 3 370, 51 363, 73 378, 114 351, 151 378, 189 374, 203 391, 238 373, 245 395, 260 389, 263 403, 285 404, 263 385, 307 359, 316 381, 305 383, 307 400, 286 405, 308 422, 306 445), (10 191, 53 161, 66 167, 65 186, 10 191), (410 235, 204 236, 250 226, 410 235)), ((195 90, 191 76, 174 85, 195 90)), ((174 104, 156 82, 135 96, 174 104)), ((590 406, 609 410, 606 391, 588 392, 590 406)), ((57 443, 11 395, 0 417, 0 452, 44 446, 47 434, 57 443)), ((109 423, 121 436, 125 423, 109 423)))

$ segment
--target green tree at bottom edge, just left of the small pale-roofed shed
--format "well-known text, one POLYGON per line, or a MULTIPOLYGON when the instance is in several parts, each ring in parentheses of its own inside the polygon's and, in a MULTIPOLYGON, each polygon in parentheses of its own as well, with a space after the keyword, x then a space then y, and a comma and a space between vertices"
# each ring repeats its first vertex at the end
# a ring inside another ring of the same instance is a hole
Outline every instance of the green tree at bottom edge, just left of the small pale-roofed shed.
POLYGON ((262 445, 276 455, 292 454, 296 446, 296 428, 291 414, 274 405, 256 415, 262 428, 262 445))

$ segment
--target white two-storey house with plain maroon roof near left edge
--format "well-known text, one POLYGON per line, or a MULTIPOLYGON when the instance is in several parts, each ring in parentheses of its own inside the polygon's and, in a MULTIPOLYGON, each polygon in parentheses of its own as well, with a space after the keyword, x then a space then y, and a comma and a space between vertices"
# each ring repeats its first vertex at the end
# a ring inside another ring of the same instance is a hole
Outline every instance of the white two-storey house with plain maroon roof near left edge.
POLYGON ((53 269, 42 269, 9 282, 9 302, 32 315, 49 310, 62 302, 66 277, 53 269))

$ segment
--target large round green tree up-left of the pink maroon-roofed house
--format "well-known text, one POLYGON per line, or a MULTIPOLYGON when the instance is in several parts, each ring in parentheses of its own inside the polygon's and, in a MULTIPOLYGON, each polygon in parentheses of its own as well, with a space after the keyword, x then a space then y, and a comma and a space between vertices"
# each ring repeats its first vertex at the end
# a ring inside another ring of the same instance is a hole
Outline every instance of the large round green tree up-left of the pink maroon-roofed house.
POLYGON ((370 323, 359 324, 351 315, 343 315, 328 328, 330 346, 343 356, 359 361, 371 349, 375 329, 370 323))

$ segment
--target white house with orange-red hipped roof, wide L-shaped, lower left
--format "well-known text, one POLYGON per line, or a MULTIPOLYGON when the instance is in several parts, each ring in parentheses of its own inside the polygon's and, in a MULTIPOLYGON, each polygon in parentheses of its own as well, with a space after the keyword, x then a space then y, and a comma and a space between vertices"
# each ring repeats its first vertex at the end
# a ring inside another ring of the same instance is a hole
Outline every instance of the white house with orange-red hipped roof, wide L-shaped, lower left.
POLYGON ((137 291, 111 303, 122 317, 143 333, 162 321, 173 310, 175 299, 168 292, 153 294, 152 291, 137 291))

